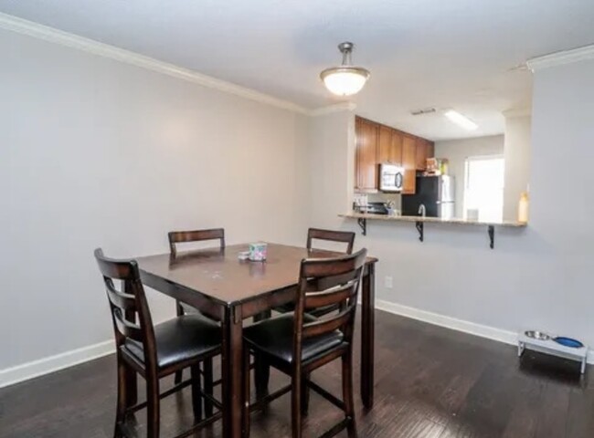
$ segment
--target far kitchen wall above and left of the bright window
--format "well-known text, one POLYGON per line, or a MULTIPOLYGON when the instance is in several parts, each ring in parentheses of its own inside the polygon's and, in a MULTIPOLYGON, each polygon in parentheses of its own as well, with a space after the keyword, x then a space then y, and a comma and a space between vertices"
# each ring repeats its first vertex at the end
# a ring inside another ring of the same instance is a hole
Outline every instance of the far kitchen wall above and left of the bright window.
POLYGON ((455 178, 455 215, 464 217, 464 174, 468 157, 504 155, 504 136, 491 135, 474 139, 437 141, 435 156, 450 161, 450 174, 455 178))

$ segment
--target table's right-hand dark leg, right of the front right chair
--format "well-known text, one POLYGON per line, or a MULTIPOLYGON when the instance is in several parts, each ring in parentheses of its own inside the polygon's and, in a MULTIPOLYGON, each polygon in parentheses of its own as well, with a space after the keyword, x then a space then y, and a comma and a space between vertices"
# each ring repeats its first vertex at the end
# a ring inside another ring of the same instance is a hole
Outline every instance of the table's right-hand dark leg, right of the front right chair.
POLYGON ((361 311, 361 398, 371 409, 374 404, 374 343, 376 326, 376 266, 367 266, 363 277, 361 311))

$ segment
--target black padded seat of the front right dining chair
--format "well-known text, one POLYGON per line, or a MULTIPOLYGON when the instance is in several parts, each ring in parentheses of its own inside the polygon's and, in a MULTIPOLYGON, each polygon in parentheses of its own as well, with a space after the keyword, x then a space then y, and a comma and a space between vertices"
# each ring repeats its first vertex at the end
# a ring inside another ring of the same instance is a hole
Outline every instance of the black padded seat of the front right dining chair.
MULTIPOLYGON (((303 316, 304 322, 313 322, 316 318, 303 316)), ((243 330, 244 339, 250 349, 262 351, 276 359, 287 363, 293 360, 293 327, 294 315, 285 314, 278 318, 265 319, 243 330)), ((311 360, 329 349, 334 349, 343 343, 343 333, 334 330, 321 336, 303 339, 302 361, 311 360)))

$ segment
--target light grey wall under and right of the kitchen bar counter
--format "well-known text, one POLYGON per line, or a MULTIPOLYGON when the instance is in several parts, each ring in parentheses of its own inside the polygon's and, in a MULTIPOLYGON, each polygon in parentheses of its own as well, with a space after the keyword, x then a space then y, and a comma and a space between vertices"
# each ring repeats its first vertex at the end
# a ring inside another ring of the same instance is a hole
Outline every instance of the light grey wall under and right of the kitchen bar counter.
MULTIPOLYGON (((537 71, 527 229, 498 228, 492 250, 482 227, 426 224, 420 243, 414 224, 368 221, 367 235, 358 234, 355 245, 379 258, 377 297, 411 313, 495 328, 509 333, 507 339, 518 329, 538 328, 594 345, 594 174, 576 172, 575 165, 576 157, 594 160, 592 114, 594 61, 537 71), (393 288, 384 287, 385 276, 393 277, 393 288)), ((338 174, 344 160, 335 154, 353 153, 352 145, 321 147, 328 151, 320 156, 333 160, 315 162, 313 175, 338 174)), ((315 193, 329 199, 344 186, 334 180, 315 193)), ((324 221, 317 224, 358 232, 355 221, 336 217, 337 206, 318 208, 314 217, 324 221)))

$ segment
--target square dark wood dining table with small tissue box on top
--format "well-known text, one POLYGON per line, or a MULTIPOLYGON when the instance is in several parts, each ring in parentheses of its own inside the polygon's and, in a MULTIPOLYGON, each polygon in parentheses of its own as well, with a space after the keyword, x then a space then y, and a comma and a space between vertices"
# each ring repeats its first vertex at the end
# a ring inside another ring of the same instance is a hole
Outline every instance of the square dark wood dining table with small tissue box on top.
MULTIPOLYGON (((137 257, 143 284, 199 309, 222 328, 223 435, 241 436, 243 320, 291 303, 303 258, 341 255, 268 244, 265 262, 239 260, 248 245, 137 257)), ((361 398, 374 402, 375 264, 368 257, 361 294, 361 398)))

